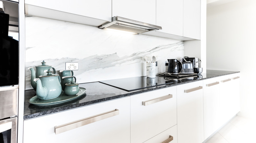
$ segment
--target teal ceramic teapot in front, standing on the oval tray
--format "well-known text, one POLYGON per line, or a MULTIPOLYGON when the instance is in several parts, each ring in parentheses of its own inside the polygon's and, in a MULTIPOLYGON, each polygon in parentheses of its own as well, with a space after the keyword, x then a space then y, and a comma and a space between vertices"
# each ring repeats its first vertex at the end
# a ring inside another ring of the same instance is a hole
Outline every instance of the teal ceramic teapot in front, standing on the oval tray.
POLYGON ((49 100, 59 97, 61 94, 60 76, 52 74, 49 69, 47 75, 40 75, 35 78, 36 82, 36 96, 41 100, 49 100))

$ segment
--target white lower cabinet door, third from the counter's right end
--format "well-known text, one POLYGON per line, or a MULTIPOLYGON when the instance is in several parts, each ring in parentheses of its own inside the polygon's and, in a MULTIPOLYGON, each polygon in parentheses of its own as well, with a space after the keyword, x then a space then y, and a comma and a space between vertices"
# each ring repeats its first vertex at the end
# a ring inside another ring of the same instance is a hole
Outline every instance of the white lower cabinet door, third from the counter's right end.
POLYGON ((204 139, 207 139, 223 124, 221 121, 220 108, 220 78, 203 80, 203 125, 204 139))

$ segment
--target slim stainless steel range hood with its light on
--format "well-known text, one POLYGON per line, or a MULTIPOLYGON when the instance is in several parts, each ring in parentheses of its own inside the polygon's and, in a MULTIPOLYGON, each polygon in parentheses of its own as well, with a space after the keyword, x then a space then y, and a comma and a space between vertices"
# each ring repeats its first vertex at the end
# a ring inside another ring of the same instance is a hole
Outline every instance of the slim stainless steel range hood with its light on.
POLYGON ((152 30, 162 29, 161 26, 147 24, 147 23, 123 18, 120 16, 112 17, 112 22, 107 22, 105 24, 102 24, 98 26, 98 28, 101 28, 101 29, 110 28, 110 29, 134 32, 137 34, 152 31, 152 30))

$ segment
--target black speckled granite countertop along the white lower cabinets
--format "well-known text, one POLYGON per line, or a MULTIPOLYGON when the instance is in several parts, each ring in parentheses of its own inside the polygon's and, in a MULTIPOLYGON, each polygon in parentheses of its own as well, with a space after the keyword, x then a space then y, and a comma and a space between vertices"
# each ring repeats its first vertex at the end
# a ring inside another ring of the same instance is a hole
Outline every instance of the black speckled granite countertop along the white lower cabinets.
MULTIPOLYGON (((85 83, 79 84, 79 87, 84 87, 87 89, 86 93, 81 97, 74 99, 66 103, 59 103, 55 105, 46 105, 46 106, 37 106, 29 103, 29 100, 35 96, 34 90, 25 91, 25 102, 24 102, 24 120, 32 119, 35 117, 40 117, 48 114, 53 114, 77 107, 82 107, 90 104, 105 102, 109 100, 114 100, 122 97, 132 96, 135 94, 148 92, 152 90, 157 90, 161 88, 176 86, 180 84, 185 84, 189 82, 195 82, 203 79, 213 78, 217 76, 223 76, 227 74, 238 73, 239 71, 218 71, 218 70, 206 70, 206 73, 202 73, 202 76, 189 78, 189 79, 179 79, 174 80, 174 83, 161 85, 156 87, 150 87, 145 89, 139 89, 136 91, 125 91, 115 87, 111 87, 100 82, 85 83)), ((162 75, 157 75, 161 76, 162 75)), ((169 77, 166 77, 166 80, 172 80, 169 77)))

